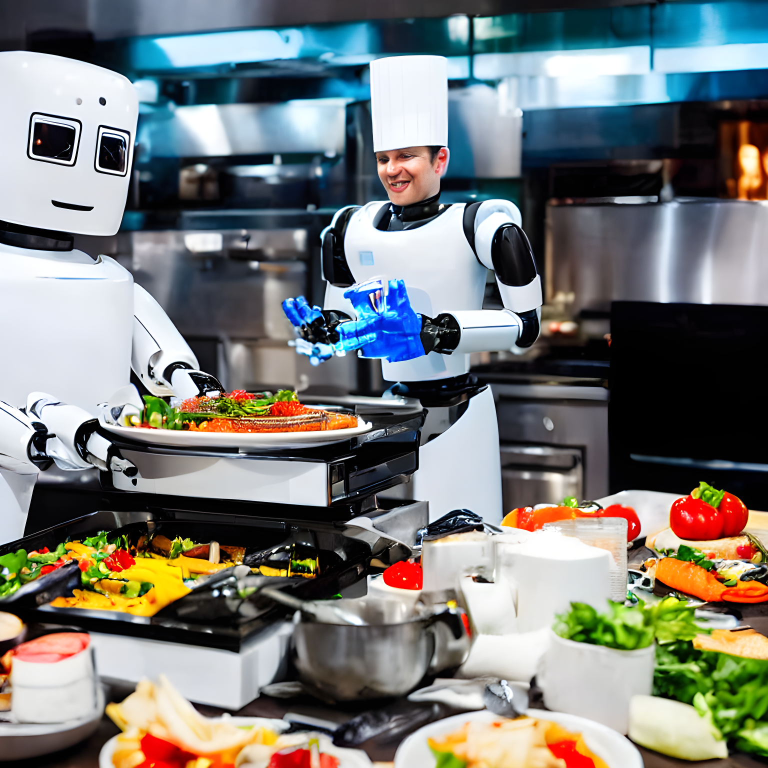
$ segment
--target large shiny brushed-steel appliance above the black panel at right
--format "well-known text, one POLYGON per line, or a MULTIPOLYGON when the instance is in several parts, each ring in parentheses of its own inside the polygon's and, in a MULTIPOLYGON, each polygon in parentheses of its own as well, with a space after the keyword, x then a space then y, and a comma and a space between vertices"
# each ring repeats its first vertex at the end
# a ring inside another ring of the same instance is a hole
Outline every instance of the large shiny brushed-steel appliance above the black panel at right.
POLYGON ((546 236, 546 300, 574 317, 611 301, 768 303, 765 201, 548 205, 546 236))

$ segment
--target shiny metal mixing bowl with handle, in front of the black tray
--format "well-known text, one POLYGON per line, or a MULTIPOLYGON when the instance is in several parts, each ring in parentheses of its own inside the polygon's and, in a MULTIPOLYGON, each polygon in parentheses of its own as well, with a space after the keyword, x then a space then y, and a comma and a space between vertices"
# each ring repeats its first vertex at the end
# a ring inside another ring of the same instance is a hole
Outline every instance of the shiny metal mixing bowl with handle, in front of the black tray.
POLYGON ((396 600, 339 601, 368 625, 321 624, 301 617, 293 631, 303 683, 335 701, 402 696, 429 672, 458 667, 469 650, 460 614, 410 617, 396 600))

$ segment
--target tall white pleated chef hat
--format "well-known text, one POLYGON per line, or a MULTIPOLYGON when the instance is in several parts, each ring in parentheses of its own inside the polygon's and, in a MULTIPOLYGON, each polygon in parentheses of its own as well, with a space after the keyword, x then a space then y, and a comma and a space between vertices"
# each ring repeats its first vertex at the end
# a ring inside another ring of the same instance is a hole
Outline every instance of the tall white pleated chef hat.
POLYGON ((448 61, 390 56, 371 62, 373 151, 448 144, 448 61))

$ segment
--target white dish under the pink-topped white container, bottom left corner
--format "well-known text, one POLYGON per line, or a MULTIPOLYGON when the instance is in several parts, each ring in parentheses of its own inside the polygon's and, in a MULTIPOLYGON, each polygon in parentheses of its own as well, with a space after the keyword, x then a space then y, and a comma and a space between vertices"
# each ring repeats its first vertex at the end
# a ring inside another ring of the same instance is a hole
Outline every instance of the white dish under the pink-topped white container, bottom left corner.
POLYGON ((87 739, 98 730, 104 713, 101 687, 98 687, 96 696, 94 713, 80 720, 68 720, 66 723, 0 723, 0 763, 58 752, 87 739))

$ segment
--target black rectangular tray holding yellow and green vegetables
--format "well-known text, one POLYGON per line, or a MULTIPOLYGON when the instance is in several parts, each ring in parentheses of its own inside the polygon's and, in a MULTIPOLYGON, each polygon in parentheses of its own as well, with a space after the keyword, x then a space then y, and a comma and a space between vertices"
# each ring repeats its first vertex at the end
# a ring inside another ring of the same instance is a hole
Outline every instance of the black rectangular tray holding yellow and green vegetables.
MULTIPOLYGON (((291 543, 313 547, 319 558, 320 572, 316 578, 261 577, 265 584, 269 581, 270 586, 280 587, 306 600, 332 598, 353 588, 366 576, 372 556, 369 545, 344 535, 343 525, 333 522, 281 521, 180 510, 97 511, 0 545, 0 555, 22 548, 26 551, 42 547, 52 550, 60 541, 81 541, 99 531, 108 531, 110 538, 127 535, 135 545, 139 536, 150 529, 162 532, 168 538, 182 536, 194 541, 215 540, 223 545, 244 547, 246 561, 249 555, 291 543)), ((61 578, 55 583, 44 587, 41 582, 38 591, 0 600, 0 611, 11 611, 25 622, 76 625, 84 631, 233 651, 240 650, 243 643, 286 616, 284 607, 259 599, 257 594, 241 598, 233 587, 236 580, 224 571, 220 577, 211 578, 207 584, 195 588, 152 617, 51 607, 49 603, 54 598, 71 596, 73 588, 80 588, 79 570, 70 567, 69 574, 60 570, 61 578)))

